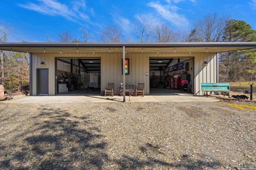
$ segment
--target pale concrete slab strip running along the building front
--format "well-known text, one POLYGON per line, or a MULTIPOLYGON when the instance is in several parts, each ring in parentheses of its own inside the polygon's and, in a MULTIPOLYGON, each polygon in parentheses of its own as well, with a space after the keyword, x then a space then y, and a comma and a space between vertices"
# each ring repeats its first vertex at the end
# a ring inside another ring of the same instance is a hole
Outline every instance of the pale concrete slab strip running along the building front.
MULTIPOLYGON (((149 96, 126 96, 126 102, 214 102, 219 99, 212 97, 193 96, 190 94, 168 94, 149 96)), ((5 103, 105 103, 123 102, 123 96, 23 96, 12 100, 3 101, 5 103)))

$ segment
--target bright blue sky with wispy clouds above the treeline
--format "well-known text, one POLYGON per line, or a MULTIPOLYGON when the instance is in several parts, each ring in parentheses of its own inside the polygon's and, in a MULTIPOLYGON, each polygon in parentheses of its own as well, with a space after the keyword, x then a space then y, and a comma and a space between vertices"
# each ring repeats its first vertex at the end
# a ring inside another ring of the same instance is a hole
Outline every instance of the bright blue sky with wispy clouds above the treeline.
POLYGON ((138 20, 186 32, 207 13, 244 20, 256 29, 256 0, 1 0, 0 11, 0 22, 12 30, 9 42, 45 42, 46 35, 57 41, 58 34, 67 30, 78 38, 81 28, 100 41, 105 25, 117 25, 123 40, 138 41, 133 29, 138 20))

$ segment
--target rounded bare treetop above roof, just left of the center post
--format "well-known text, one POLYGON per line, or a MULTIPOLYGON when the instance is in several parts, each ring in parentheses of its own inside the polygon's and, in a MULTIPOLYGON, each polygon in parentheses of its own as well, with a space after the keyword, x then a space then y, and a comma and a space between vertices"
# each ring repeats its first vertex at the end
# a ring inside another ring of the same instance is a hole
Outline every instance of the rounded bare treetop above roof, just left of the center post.
POLYGON ((100 39, 105 43, 119 43, 121 42, 121 31, 116 25, 113 27, 106 25, 101 32, 100 39))

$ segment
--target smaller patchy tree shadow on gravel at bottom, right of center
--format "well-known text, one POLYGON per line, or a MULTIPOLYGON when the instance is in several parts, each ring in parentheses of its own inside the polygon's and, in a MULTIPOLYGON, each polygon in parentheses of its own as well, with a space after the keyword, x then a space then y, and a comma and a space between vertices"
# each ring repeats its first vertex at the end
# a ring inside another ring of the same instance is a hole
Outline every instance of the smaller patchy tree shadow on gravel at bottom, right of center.
MULTIPOLYGON (((194 159, 189 155, 180 156, 179 160, 175 162, 166 162, 159 158, 164 156, 159 146, 146 143, 145 146, 139 148, 143 155, 136 157, 129 157, 123 155, 121 159, 115 160, 120 169, 140 169, 140 168, 174 168, 174 169, 205 169, 205 168, 219 168, 218 160, 211 161, 204 160, 206 155, 198 155, 199 158, 194 159), (146 155, 146 157, 145 157, 146 155), (158 157, 158 158, 156 158, 158 157)), ((210 157, 209 157, 210 158, 210 157)))

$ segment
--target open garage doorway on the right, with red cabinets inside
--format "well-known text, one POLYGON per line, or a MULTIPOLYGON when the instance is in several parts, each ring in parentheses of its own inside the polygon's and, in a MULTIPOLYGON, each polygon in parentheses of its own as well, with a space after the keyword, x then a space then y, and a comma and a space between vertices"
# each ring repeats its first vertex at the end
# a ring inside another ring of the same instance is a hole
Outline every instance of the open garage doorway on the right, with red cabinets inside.
POLYGON ((194 58, 150 58, 150 94, 193 93, 194 58))

